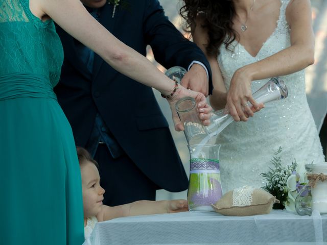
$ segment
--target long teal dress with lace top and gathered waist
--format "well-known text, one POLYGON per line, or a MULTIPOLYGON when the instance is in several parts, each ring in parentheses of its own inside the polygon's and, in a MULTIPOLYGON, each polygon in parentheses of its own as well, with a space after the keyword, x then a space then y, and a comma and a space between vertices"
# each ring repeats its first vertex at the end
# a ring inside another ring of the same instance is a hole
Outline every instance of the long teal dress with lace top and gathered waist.
POLYGON ((29 0, 0 0, 0 244, 84 241, 75 142, 53 87, 63 50, 29 0))

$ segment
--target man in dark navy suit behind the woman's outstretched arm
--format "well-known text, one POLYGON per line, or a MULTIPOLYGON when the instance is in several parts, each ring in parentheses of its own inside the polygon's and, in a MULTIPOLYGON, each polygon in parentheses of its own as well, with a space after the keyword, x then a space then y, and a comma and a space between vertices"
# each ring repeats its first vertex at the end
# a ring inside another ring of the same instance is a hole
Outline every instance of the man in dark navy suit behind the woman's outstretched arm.
MULTIPOLYGON (((183 86, 211 93, 211 70, 204 54, 182 37, 157 0, 121 0, 115 7, 114 0, 81 2, 137 52, 146 55, 146 46, 151 45, 156 61, 166 68, 188 69, 183 86)), ((188 177, 152 88, 120 74, 61 28, 57 32, 64 63, 55 92, 76 145, 86 148, 100 165, 104 204, 155 200, 156 189, 188 188, 188 177)))

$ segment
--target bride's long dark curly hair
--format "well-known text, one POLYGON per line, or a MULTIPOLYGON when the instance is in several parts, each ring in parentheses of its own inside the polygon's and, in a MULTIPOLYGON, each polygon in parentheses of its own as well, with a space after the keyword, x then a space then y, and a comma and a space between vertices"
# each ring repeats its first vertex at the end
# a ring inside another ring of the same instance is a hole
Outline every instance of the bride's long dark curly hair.
MULTIPOLYGON (((196 26, 196 17, 201 15, 204 19, 203 28, 208 30, 209 42, 206 46, 208 54, 219 55, 222 44, 226 48, 239 34, 232 29, 232 19, 235 8, 230 0, 183 0, 184 5, 179 10, 185 19, 186 32, 192 34, 196 26)), ((230 50, 230 48, 228 48, 230 50)))

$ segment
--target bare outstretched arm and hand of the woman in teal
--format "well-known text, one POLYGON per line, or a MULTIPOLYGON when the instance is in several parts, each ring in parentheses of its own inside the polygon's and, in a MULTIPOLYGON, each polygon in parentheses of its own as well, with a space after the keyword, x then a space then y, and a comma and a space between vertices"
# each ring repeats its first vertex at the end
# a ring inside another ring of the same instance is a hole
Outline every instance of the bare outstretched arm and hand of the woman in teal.
MULTIPOLYGON (((86 11, 79 0, 30 0, 30 8, 38 17, 50 16, 62 29, 99 54, 122 74, 151 86, 162 94, 168 95, 174 90, 174 81, 162 74, 146 57, 115 38, 86 11)), ((183 96, 196 99, 198 107, 203 109, 200 118, 204 124, 208 124, 211 107, 206 104, 204 95, 180 86, 168 99, 175 129, 183 130, 183 125, 173 109, 173 104, 183 96)))

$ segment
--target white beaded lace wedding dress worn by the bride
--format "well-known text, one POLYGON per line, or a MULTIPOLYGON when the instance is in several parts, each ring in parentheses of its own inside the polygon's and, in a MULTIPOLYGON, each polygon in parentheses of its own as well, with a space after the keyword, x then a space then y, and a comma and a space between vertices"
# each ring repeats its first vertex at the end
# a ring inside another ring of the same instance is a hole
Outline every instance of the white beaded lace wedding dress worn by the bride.
MULTIPOLYGON (((262 60, 290 46, 290 29, 285 10, 290 0, 281 0, 277 27, 263 44, 259 53, 252 57, 245 48, 234 41, 234 52, 220 47, 218 63, 227 89, 234 72, 247 64, 262 60)), ((310 112, 303 70, 281 77, 288 88, 288 97, 265 104, 247 122, 232 122, 217 137, 221 144, 219 160, 224 192, 250 185, 264 186, 261 173, 273 165, 269 162, 274 152, 282 146, 282 163, 290 165, 294 159, 298 165, 322 163, 321 143, 310 112)), ((252 92, 268 80, 252 82, 252 92)))

